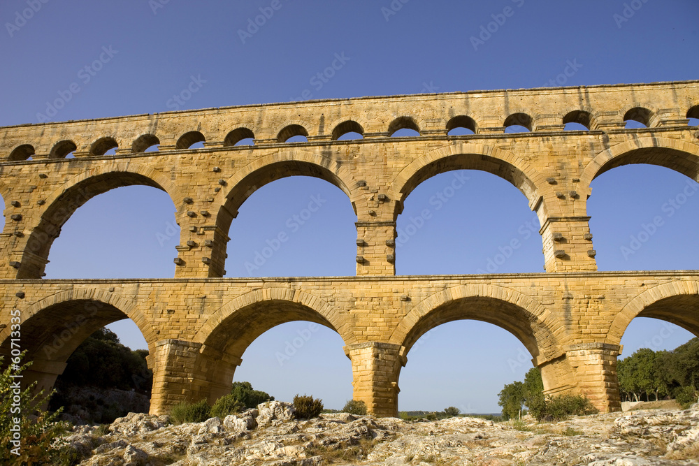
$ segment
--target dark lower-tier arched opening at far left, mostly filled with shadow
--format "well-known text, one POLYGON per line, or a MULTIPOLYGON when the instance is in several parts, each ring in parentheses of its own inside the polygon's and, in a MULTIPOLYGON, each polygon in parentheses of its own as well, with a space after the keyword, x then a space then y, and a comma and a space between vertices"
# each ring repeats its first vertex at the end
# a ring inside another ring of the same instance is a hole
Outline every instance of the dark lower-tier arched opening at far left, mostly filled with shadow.
MULTIPOLYGON (((145 361, 147 344, 134 321, 115 305, 85 299, 51 304, 22 321, 22 336, 27 342, 25 361, 33 362, 24 381, 37 381, 37 391, 45 393, 56 388, 49 407, 64 406, 65 418, 73 423, 110 423, 128 412, 148 412, 152 372, 145 361), (137 351, 122 347, 115 335, 101 330, 123 319, 134 335, 122 343, 134 344, 137 351)), ((9 351, 8 338, 1 352, 9 351)))

